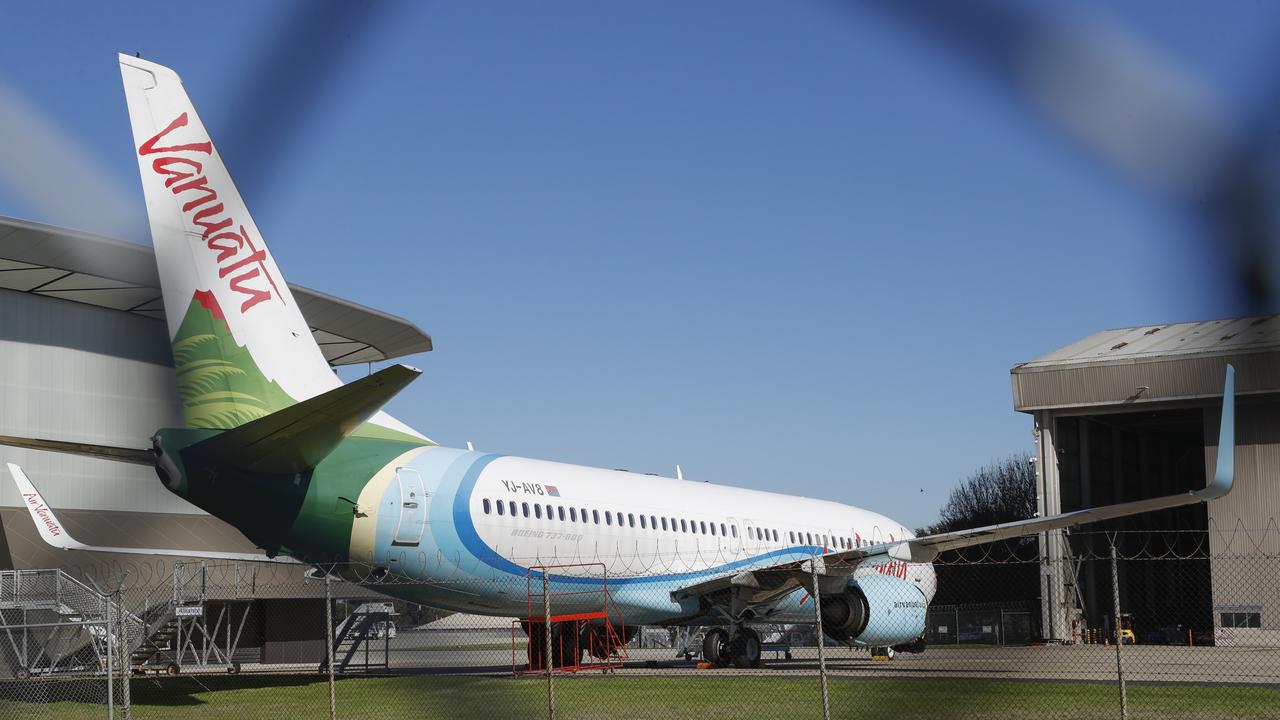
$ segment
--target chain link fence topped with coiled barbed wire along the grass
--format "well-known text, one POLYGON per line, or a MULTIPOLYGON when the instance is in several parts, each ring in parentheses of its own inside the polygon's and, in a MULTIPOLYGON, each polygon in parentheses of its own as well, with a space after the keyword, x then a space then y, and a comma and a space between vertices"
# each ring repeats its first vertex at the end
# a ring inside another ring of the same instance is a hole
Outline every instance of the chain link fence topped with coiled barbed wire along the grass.
POLYGON ((731 638, 727 623, 645 624, 669 588, 593 562, 545 568, 591 580, 577 584, 540 569, 421 583, 177 564, 116 569, 106 588, 6 571, 0 717, 1280 717, 1277 544, 1275 528, 1075 533, 1064 557, 1037 538, 947 553, 924 642, 897 647, 837 642, 845 589, 813 577, 785 601, 808 621, 756 616, 731 638), (494 598, 524 610, 494 616, 494 598))

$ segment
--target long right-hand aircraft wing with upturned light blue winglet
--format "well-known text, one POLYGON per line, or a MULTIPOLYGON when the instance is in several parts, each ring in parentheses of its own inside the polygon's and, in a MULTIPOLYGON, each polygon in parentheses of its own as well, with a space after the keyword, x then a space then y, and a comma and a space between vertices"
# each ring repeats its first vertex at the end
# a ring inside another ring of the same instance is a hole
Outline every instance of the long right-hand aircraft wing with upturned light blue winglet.
POLYGON ((735 610, 768 605, 797 587, 808 587, 812 577, 810 562, 817 565, 820 577, 847 577, 863 562, 872 560, 904 560, 906 562, 931 562, 940 552, 957 550, 974 544, 1016 538, 1047 530, 1057 530, 1084 523, 1097 523, 1194 505, 1222 497, 1231 492, 1235 480, 1235 368, 1226 366, 1226 379, 1222 388, 1222 420, 1219 428, 1217 465, 1213 479, 1203 489, 1190 491, 1133 502, 1103 505, 1088 510, 1075 510, 1061 515, 1030 518, 1012 523, 1000 523, 984 528, 938 533, 897 542, 879 543, 841 552, 828 552, 812 560, 792 560, 755 570, 721 575, 687 585, 672 592, 672 600, 698 597, 712 603, 730 602, 735 610))

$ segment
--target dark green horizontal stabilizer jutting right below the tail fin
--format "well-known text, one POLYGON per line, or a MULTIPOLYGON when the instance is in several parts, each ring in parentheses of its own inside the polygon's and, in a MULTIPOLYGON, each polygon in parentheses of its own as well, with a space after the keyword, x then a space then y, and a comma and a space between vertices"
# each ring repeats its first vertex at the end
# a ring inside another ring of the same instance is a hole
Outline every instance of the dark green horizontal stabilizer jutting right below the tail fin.
POLYGON ((305 473, 421 373, 392 365, 198 442, 187 452, 250 473, 305 473))

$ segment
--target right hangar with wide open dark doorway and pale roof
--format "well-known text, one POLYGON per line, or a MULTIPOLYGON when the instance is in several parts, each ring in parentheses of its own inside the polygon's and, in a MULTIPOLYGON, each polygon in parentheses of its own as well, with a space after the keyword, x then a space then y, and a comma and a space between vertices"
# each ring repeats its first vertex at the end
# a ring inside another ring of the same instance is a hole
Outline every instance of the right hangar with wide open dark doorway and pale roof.
MULTIPOLYGON (((1121 603, 1137 624, 1212 628, 1220 644, 1277 644, 1280 573, 1274 564, 1249 571, 1233 557, 1280 555, 1280 315, 1091 334, 1015 366, 1014 407, 1034 418, 1041 514, 1202 488, 1217 460, 1228 363, 1236 369, 1233 492, 1082 529, 1164 536, 1166 561, 1121 564, 1121 603)), ((1070 642, 1073 620, 1105 624, 1110 575, 1075 559, 1107 552, 1096 534, 1041 536, 1046 638, 1070 642)))

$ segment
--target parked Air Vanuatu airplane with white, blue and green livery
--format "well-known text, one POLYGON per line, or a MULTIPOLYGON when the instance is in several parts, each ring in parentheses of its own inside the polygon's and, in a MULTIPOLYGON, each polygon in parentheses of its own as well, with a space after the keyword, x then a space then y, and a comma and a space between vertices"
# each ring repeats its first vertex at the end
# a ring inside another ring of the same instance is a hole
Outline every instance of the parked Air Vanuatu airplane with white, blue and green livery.
POLYGON ((553 648, 572 641, 553 652, 561 666, 584 650, 607 657, 641 625, 709 626, 707 660, 754 666, 754 626, 812 624, 819 602, 833 641, 922 652, 940 552, 1231 489, 1230 365, 1206 488, 923 537, 870 510, 689 482, 678 469, 666 478, 440 447, 381 410, 420 370, 392 365, 343 384, 325 363, 178 74, 129 55, 119 64, 186 427, 156 430, 147 448, 0 443, 154 466, 262 553, 79 543, 9 464, 55 547, 298 562, 404 601, 526 618, 531 667, 543 637, 553 648), (607 588, 605 619, 625 619, 623 637, 605 637, 599 619, 545 628, 526 582, 566 598, 559 612, 607 588))

